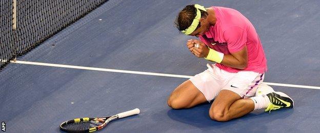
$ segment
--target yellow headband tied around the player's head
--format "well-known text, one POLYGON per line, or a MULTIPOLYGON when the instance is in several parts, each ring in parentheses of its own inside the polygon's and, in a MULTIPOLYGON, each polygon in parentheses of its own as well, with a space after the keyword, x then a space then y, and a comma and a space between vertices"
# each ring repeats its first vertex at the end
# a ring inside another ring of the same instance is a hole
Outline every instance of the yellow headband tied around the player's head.
POLYGON ((204 8, 203 6, 200 6, 198 4, 195 4, 194 7, 196 9, 196 16, 194 17, 192 24, 186 30, 181 31, 182 33, 184 33, 186 35, 191 34, 198 27, 199 20, 201 18, 200 10, 207 11, 206 8, 204 8))

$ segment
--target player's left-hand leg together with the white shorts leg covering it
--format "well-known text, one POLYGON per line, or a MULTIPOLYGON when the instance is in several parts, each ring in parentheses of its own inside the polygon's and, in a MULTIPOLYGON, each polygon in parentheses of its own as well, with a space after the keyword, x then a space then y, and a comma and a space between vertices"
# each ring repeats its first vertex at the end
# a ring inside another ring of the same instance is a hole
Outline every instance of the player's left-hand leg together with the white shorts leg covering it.
MULTIPOLYGON (((215 65, 207 64, 208 69, 199 73, 175 88, 168 98, 168 105, 174 109, 190 108, 211 101, 225 85, 225 76, 215 65)), ((227 79, 225 79, 227 80, 227 79)))

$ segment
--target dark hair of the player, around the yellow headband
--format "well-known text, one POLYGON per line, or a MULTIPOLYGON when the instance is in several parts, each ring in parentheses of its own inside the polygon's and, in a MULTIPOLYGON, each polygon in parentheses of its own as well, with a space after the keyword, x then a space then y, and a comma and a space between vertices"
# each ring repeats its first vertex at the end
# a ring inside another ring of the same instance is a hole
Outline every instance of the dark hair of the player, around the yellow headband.
MULTIPOLYGON (((208 12, 200 10, 201 17, 207 18, 208 12)), ((194 5, 187 5, 179 14, 177 15, 174 25, 179 30, 179 32, 186 30, 192 24, 194 17, 196 16, 196 8, 194 5)), ((196 29, 198 29, 200 25, 196 29)))

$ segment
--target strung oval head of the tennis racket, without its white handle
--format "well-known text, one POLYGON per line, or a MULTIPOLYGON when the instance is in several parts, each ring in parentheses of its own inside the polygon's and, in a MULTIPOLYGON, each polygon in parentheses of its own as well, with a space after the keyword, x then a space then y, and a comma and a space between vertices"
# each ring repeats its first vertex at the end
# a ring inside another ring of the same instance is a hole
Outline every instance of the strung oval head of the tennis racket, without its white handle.
POLYGON ((69 120, 61 123, 60 129, 66 132, 93 132, 104 127, 102 125, 110 117, 112 116, 77 118, 77 119, 73 119, 73 120, 69 120))

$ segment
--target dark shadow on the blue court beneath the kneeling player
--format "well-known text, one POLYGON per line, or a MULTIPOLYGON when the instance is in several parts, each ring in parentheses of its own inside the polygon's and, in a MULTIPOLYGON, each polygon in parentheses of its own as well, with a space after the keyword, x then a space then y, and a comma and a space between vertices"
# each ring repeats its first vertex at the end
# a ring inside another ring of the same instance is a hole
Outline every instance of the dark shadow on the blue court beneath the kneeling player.
POLYGON ((211 103, 205 103, 189 109, 169 109, 167 115, 174 121, 189 124, 198 128, 215 128, 227 132, 267 132, 266 124, 278 119, 285 119, 292 115, 293 109, 275 110, 265 113, 263 110, 255 110, 241 118, 228 122, 217 122, 209 117, 211 103), (218 128, 217 128, 218 127, 218 128), (236 130, 235 130, 236 129, 236 130))

